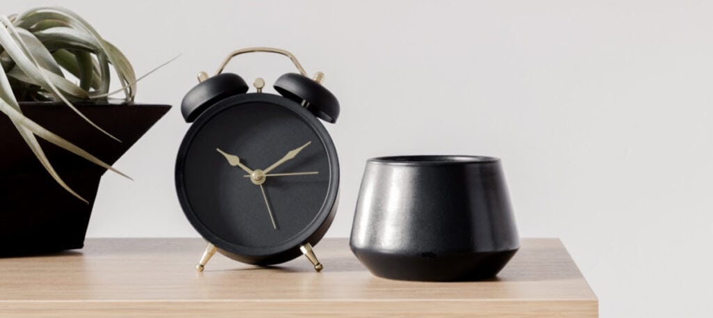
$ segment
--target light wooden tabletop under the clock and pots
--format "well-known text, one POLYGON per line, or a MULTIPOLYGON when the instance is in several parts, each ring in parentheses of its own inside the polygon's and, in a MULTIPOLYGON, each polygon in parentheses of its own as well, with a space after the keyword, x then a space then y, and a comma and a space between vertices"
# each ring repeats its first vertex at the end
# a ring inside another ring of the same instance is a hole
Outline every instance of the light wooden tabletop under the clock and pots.
POLYGON ((562 243, 525 239, 497 279, 401 282, 369 274, 346 239, 260 268, 198 239, 90 239, 77 252, 0 259, 0 317, 597 317, 597 298, 562 243))

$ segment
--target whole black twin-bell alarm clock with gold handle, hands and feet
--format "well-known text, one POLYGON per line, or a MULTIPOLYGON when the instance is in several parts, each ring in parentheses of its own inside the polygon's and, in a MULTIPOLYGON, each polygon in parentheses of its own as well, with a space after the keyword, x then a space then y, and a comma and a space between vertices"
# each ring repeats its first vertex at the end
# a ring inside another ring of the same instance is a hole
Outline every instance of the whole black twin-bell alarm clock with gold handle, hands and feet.
POLYGON ((175 185, 190 224, 208 245, 196 270, 215 252, 253 265, 274 265, 306 255, 332 224, 339 197, 339 160, 320 122, 334 123, 339 102, 297 58, 279 48, 230 53, 214 76, 198 74, 181 112, 192 123, 178 150, 175 185), (287 56, 299 73, 274 83, 279 93, 256 91, 235 73, 223 73, 232 58, 267 52, 287 56))

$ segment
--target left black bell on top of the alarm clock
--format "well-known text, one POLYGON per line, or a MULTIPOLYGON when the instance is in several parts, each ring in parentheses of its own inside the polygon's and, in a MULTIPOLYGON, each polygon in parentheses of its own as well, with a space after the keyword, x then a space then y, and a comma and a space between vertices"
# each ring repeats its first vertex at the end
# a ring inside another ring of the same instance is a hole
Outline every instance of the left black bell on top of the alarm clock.
POLYGON ((237 74, 221 73, 212 76, 185 94, 180 111, 186 123, 193 123, 206 108, 230 96, 245 93, 248 88, 245 80, 237 74))

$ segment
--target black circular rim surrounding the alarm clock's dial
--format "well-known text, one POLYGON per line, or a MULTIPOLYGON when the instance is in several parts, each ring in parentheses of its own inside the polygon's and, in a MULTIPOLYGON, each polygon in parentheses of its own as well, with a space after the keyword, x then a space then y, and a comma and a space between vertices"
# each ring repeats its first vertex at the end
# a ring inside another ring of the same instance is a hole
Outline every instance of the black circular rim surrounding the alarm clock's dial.
POLYGON ((198 116, 193 125, 190 126, 178 150, 175 165, 175 185, 180 205, 190 224, 193 225, 195 230, 197 230, 205 240, 215 245, 218 251, 223 255, 240 262, 255 265, 272 265, 287 262, 302 255, 302 252, 299 250, 301 245, 307 242, 311 245, 316 245, 317 242, 324 237, 324 233, 327 232, 329 226, 332 225, 332 220, 334 220, 334 214, 337 211, 337 203, 339 201, 339 160, 337 158, 337 149, 334 148, 334 142, 329 136, 329 133, 327 133, 327 129, 324 128, 324 125, 319 122, 314 114, 307 111, 307 109, 298 103, 282 96, 269 93, 240 94, 225 98, 214 106, 207 108, 204 113, 198 116), (314 130, 322 141, 324 149, 327 151, 327 160, 329 160, 329 188, 327 190, 327 197, 324 199, 324 203, 317 213, 317 216, 314 217, 312 222, 310 222, 304 230, 297 233, 292 240, 273 247, 246 247, 228 242, 223 240, 222 237, 215 235, 195 215, 193 207, 191 207, 188 201, 188 195, 185 189, 183 175, 183 171, 185 170, 185 158, 186 155, 188 155, 188 150, 195 136, 200 132, 203 125, 210 122, 215 116, 220 116, 222 111, 232 107, 240 107, 241 104, 245 103, 270 103, 292 111, 292 113, 299 116, 299 118, 304 120, 304 122, 314 130), (256 252, 258 250, 260 250, 260 252, 256 252))

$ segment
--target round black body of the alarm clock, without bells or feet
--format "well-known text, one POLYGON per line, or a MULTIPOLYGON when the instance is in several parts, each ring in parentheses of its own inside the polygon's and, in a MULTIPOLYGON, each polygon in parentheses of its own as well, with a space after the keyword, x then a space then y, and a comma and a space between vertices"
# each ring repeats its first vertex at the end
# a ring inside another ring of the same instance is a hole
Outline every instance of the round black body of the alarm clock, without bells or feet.
POLYGON ((245 93, 207 108, 186 133, 175 168, 178 198, 191 225, 223 255, 272 265, 302 255, 324 236, 339 196, 339 163, 319 120, 282 96, 245 93), (227 155, 266 170, 252 182, 227 155), (225 153, 225 155, 224 155, 225 153))

